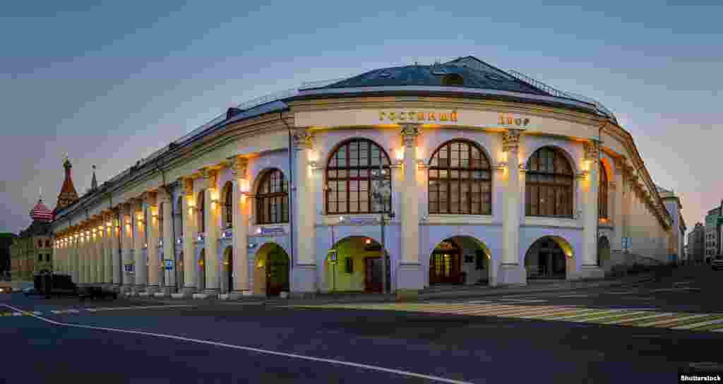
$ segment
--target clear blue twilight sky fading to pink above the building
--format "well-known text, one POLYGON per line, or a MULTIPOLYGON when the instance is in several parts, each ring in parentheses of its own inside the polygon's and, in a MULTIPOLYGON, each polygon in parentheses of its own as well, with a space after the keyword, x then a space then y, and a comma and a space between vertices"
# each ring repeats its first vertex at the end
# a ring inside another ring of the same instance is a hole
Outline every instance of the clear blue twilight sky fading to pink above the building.
POLYGON ((5 4, 0 231, 54 208, 64 153, 82 195, 251 98, 468 55, 601 101, 689 229, 723 199, 721 1, 252 2, 5 4))

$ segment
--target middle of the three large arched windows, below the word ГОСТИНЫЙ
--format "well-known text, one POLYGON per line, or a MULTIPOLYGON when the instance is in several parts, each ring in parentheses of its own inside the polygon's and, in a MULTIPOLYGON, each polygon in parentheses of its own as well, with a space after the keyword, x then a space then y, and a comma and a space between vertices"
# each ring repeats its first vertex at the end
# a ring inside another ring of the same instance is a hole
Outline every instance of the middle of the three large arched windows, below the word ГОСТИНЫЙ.
POLYGON ((489 159, 473 142, 452 140, 429 163, 429 213, 492 214, 489 159))

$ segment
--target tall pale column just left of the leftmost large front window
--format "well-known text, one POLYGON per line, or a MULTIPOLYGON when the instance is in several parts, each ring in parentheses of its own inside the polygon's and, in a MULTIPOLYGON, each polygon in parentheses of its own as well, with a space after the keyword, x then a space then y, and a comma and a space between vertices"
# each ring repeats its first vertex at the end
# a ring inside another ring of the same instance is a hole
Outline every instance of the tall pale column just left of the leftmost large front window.
POLYGON ((291 195, 294 214, 294 258, 291 260, 291 294, 296 297, 311 296, 317 291, 317 263, 315 257, 316 197, 312 182, 309 156, 313 149, 312 132, 308 128, 296 128, 293 135, 294 169, 291 195))

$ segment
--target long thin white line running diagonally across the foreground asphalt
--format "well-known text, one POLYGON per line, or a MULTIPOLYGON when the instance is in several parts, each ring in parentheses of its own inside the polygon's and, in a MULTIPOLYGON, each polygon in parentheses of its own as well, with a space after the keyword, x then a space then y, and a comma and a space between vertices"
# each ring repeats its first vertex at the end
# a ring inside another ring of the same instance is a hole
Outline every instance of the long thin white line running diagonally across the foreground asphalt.
MULTIPOLYGON (((8 304, 0 304, 4 307, 8 307, 11 310, 19 311, 15 307, 11 307, 8 304)), ((30 315, 35 317, 38 320, 43 320, 46 323, 50 323, 53 325, 61 325, 64 327, 72 327, 72 328, 85 328, 85 329, 93 329, 93 330, 107 330, 109 332, 119 332, 119 333, 130 333, 133 335, 143 335, 143 336, 154 336, 158 338, 170 338, 173 340, 180 340, 180 341, 189 341, 192 343, 197 344, 207 344, 212 346, 223 346, 230 349, 240 349, 242 351, 252 351, 257 352, 260 354, 271 354, 275 356, 282 356, 282 357, 291 357, 294 359, 302 359, 302 360, 309 360, 312 362, 326 362, 329 364, 338 364, 338 365, 346 365, 348 367, 355 367, 355 368, 365 368, 367 370, 374 370, 378 372, 388 372, 388 373, 395 373, 397 375, 402 376, 408 376, 408 377, 420 377, 427 380, 435 380, 440 381, 442 383, 452 383, 452 384, 472 384, 469 381, 462 381, 462 380, 454 380, 454 379, 448 379, 445 377, 439 377, 439 376, 432 376, 432 375, 424 375, 421 373, 415 373, 415 372, 408 372, 404 370, 394 370, 391 368, 385 368, 385 367, 378 367, 376 365, 369 365, 369 364, 359 364, 354 362, 344 362, 342 360, 335 360, 335 359, 324 359, 322 357, 311 357, 311 356, 305 356, 301 354, 288 354, 285 352, 278 352, 278 351, 269 351, 268 349, 260 349, 260 348, 253 348, 250 346, 237 346, 234 344, 226 344, 226 343, 218 343, 216 341, 208 341, 208 340, 200 340, 198 338, 186 338, 181 336, 174 336, 174 335, 166 335, 163 333, 151 333, 151 332, 143 332, 140 330, 127 330, 127 329, 120 329, 120 328, 105 328, 105 327, 95 327, 93 325, 81 325, 81 324, 71 324, 71 323, 61 323, 59 321, 54 321, 50 319, 46 319, 45 317, 40 317, 38 315, 30 315)))

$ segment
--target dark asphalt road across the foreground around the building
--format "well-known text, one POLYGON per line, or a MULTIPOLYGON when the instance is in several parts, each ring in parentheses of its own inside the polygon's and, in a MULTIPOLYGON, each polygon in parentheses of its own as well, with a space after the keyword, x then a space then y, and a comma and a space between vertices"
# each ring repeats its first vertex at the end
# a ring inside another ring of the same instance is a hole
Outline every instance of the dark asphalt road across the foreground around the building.
POLYGON ((722 277, 723 271, 680 268, 642 286, 454 303, 468 314, 445 312, 447 304, 435 302, 387 304, 388 310, 180 307, 7 294, 0 296, 0 377, 10 383, 677 383, 677 372, 691 363, 723 364, 723 332, 514 314, 567 305, 723 314, 716 287, 722 277), (442 310, 413 312, 428 305, 442 310), (475 305, 502 310, 479 312, 475 305), (505 313, 508 305, 514 307, 505 313), (25 314, 12 315, 11 307, 25 314))

